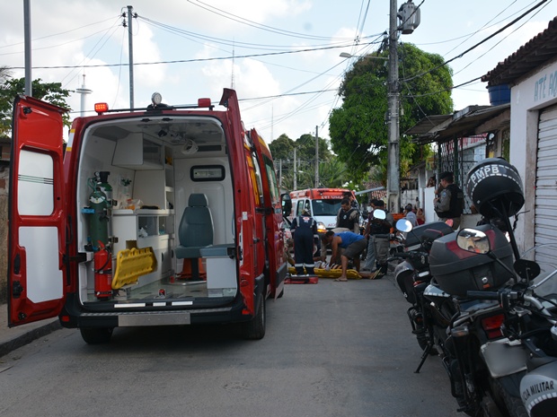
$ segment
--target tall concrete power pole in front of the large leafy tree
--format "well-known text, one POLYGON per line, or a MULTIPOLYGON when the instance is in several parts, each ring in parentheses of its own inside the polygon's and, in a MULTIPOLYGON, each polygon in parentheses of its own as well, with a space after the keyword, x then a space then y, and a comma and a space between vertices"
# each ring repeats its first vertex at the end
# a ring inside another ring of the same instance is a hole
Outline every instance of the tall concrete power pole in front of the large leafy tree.
POLYGON ((389 77, 388 77, 388 144, 387 144, 387 208, 391 213, 401 210, 401 162, 399 148, 399 91, 396 0, 391 0, 389 15, 389 77))

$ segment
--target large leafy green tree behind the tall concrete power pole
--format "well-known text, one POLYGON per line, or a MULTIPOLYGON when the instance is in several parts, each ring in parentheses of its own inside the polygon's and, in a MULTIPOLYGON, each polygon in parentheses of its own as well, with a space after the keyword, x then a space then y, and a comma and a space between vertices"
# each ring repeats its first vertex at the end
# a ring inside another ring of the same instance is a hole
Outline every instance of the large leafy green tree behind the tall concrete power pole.
MULTIPOLYGON (((402 43, 399 55, 401 93, 400 132, 429 115, 453 111, 450 89, 452 70, 442 65, 437 54, 429 54, 409 43, 402 43)), ((329 119, 332 151, 346 161, 348 178, 358 183, 376 167, 385 184, 387 165, 387 79, 384 60, 362 57, 350 68, 340 84, 343 100, 329 119)), ((400 137, 401 172, 429 152, 419 149, 410 138, 400 137)))

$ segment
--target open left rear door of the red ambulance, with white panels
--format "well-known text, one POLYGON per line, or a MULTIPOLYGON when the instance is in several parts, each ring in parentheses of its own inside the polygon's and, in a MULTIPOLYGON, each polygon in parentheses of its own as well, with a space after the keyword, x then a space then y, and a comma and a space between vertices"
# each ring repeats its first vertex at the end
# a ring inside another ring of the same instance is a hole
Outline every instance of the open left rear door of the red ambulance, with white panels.
POLYGON ((31 97, 13 104, 8 326, 56 317, 64 306, 65 111, 31 97))

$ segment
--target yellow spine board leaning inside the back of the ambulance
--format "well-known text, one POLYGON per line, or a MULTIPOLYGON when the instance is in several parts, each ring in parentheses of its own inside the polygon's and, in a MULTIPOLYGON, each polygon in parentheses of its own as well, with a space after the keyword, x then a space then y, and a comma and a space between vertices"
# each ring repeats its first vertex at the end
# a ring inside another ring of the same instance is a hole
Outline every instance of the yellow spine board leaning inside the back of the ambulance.
POLYGON ((112 289, 118 290, 128 283, 135 283, 141 275, 156 270, 156 257, 153 248, 131 248, 118 252, 116 273, 112 278, 112 289))

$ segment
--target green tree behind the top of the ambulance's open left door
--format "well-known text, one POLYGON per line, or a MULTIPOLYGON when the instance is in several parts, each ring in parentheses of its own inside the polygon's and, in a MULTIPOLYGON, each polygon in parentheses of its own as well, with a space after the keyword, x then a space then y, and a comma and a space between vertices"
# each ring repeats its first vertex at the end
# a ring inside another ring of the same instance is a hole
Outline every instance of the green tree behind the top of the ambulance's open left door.
MULTIPOLYGON (((5 69, 5 68, 4 68, 5 69)), ((25 79, 11 78, 5 69, 0 68, 0 135, 10 135, 12 131, 13 100, 19 94, 25 93, 25 79)), ((33 98, 47 101, 61 108, 69 109, 66 103, 70 90, 62 88, 62 83, 42 83, 40 78, 31 83, 33 98)), ((64 125, 70 126, 69 115, 62 116, 64 125)))

